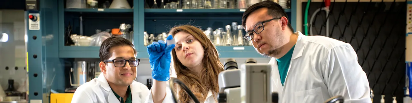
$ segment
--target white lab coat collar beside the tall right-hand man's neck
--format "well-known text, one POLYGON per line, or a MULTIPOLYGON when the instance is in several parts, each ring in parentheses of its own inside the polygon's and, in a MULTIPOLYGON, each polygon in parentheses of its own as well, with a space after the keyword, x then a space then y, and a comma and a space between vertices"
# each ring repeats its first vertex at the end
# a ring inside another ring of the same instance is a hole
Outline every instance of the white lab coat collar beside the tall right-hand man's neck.
POLYGON ((305 39, 307 36, 303 35, 300 31, 295 32, 295 34, 298 33, 297 41, 295 44, 295 49, 293 49, 293 54, 292 54, 292 59, 296 59, 300 56, 302 56, 303 49, 305 47, 305 39))

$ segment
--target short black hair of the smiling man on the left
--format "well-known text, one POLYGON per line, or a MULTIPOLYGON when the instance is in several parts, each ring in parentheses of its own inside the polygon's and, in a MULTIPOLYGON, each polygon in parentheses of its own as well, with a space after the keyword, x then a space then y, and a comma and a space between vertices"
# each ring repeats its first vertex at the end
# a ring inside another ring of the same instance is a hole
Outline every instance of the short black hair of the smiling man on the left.
POLYGON ((110 53, 110 49, 112 47, 117 47, 117 46, 130 46, 133 48, 134 54, 136 55, 136 49, 134 49, 134 45, 132 42, 129 40, 123 38, 123 37, 109 37, 106 40, 104 40, 100 46, 99 50, 99 57, 100 61, 106 61, 112 56, 112 53, 110 53))

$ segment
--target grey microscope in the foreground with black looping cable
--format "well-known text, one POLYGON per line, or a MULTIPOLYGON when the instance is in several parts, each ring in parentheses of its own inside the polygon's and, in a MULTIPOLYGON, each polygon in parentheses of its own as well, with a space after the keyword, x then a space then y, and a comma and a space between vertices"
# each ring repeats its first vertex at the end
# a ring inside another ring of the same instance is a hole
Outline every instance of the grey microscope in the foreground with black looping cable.
MULTIPOLYGON (((247 59, 238 69, 235 59, 227 59, 224 71, 219 73, 219 103, 279 103, 279 94, 271 89, 272 66, 267 63, 257 63, 255 59, 247 59)), ((187 92, 194 103, 199 103, 192 91, 176 78, 169 80, 174 103, 178 103, 173 92, 174 84, 187 92)), ((343 103, 342 96, 334 96, 324 103, 343 103)))

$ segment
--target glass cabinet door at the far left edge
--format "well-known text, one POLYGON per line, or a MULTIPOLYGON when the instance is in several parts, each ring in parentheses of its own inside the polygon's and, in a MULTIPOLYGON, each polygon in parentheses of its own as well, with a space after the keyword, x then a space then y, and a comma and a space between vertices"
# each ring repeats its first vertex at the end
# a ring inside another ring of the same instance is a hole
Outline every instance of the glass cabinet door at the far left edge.
POLYGON ((27 99, 24 14, 22 9, 0 9, 0 101, 27 99))

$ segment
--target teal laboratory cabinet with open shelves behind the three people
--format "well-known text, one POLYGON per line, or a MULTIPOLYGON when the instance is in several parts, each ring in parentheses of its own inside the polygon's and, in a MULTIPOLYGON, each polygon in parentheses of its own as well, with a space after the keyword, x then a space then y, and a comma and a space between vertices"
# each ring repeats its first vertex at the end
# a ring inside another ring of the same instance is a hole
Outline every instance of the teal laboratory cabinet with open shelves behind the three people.
MULTIPOLYGON (((137 58, 149 56, 144 45, 144 32, 154 35, 167 32, 180 24, 199 26, 203 30, 224 28, 237 22, 245 9, 150 9, 145 0, 127 0, 131 9, 72 9, 66 0, 37 0, 39 9, 25 14, 29 75, 29 102, 50 103, 50 93, 64 93, 70 87, 70 66, 75 59, 99 58, 98 46, 73 46, 70 35, 91 36, 96 30, 119 28, 130 24, 131 39, 137 58), (70 29, 68 28, 70 26, 70 29), (70 30, 70 33, 67 31, 70 30)), ((82 0, 80 0, 82 1, 82 0)), ((86 0, 83 0, 86 1, 86 0)), ((102 1, 102 0, 96 0, 102 1)), ((106 1, 106 0, 103 0, 106 1)), ((113 0, 107 0, 113 1, 113 0)), ((147 0, 146 0, 147 1, 147 0)), ((152 0, 151 0, 152 1, 152 0)), ((166 0, 167 1, 167 0, 166 0)), ((180 1, 180 0, 175 0, 180 1)), ((296 0, 285 9, 296 28, 296 0)), ((150 5, 152 6, 152 5, 150 5)), ((244 30, 243 30, 244 33, 244 30)), ((261 58, 252 46, 216 46, 221 58, 261 58)))

